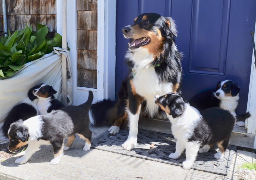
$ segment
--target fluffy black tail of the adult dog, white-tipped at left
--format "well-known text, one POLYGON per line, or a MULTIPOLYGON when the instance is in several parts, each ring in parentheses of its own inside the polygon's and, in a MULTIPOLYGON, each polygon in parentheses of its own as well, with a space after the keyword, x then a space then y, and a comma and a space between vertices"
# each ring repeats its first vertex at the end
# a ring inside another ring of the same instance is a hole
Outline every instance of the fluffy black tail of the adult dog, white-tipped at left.
POLYGON ((102 126, 107 123, 107 113, 114 105, 115 101, 109 99, 92 104, 89 111, 90 122, 95 126, 102 126))

